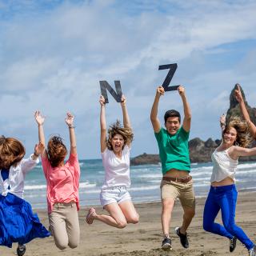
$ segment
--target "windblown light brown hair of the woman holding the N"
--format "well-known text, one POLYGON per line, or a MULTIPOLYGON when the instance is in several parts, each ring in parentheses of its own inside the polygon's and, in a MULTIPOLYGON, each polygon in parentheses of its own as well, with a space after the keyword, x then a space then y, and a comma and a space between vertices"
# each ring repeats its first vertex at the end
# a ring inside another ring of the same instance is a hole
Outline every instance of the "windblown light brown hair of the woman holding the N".
POLYGON ((111 142, 116 134, 120 134, 124 140, 122 149, 124 148, 124 146, 126 146, 127 143, 130 143, 134 140, 134 134, 131 128, 122 127, 119 120, 117 120, 117 122, 114 122, 114 124, 110 126, 107 133, 108 133, 108 138, 106 139, 106 146, 109 150, 113 150, 113 146, 111 142))

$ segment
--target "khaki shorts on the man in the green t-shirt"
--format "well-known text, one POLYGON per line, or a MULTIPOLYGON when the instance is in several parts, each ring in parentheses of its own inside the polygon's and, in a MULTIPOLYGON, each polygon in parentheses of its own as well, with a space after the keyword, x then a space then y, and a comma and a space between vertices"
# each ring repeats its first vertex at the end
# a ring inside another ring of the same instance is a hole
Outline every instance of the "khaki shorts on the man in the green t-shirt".
POLYGON ((182 204, 182 207, 195 208, 195 197, 194 197, 194 188, 193 180, 187 183, 179 183, 172 181, 162 180, 161 185, 161 198, 177 198, 182 204))

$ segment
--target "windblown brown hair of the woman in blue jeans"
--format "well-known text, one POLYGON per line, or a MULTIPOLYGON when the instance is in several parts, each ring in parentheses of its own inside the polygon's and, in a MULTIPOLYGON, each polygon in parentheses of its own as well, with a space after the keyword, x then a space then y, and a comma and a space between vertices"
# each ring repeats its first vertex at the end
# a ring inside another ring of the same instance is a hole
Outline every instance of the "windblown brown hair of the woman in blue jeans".
POLYGON ((230 121, 226 124, 226 127, 222 132, 222 137, 223 134, 225 134, 226 131, 229 131, 231 127, 237 131, 237 138, 234 142, 234 145, 242 147, 250 146, 253 138, 250 136, 246 121, 238 117, 230 118, 230 121))

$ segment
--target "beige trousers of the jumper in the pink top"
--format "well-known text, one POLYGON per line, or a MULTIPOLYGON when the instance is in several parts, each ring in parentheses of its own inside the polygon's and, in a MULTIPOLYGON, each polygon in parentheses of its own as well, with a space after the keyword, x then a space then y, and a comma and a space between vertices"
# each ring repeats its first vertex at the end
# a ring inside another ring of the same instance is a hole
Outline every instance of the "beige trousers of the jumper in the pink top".
POLYGON ((53 211, 48 214, 50 232, 60 250, 67 246, 75 248, 79 244, 80 227, 78 210, 75 202, 55 203, 53 211))

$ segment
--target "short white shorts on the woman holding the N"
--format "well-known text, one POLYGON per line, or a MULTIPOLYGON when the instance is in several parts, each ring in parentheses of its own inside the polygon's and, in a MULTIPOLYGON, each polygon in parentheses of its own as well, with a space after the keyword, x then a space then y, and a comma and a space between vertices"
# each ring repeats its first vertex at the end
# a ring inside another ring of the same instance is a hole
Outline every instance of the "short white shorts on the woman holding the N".
POLYGON ((101 205, 104 207, 110 203, 118 204, 126 200, 131 200, 130 193, 126 190, 126 186, 110 186, 103 189, 100 194, 101 205))

